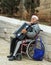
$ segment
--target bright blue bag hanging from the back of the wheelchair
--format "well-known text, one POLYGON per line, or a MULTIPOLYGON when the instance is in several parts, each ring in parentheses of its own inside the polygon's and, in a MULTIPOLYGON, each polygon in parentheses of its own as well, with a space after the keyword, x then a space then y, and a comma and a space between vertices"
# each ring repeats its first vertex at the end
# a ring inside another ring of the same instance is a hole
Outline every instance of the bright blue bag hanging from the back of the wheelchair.
MULTIPOLYGON (((36 40, 36 42, 38 42, 38 41, 36 40)), ((34 48, 33 59, 37 60, 37 61, 41 61, 43 59, 44 52, 45 52, 45 48, 42 43, 42 39, 40 39, 40 44, 41 44, 41 49, 36 48, 36 47, 34 48)))

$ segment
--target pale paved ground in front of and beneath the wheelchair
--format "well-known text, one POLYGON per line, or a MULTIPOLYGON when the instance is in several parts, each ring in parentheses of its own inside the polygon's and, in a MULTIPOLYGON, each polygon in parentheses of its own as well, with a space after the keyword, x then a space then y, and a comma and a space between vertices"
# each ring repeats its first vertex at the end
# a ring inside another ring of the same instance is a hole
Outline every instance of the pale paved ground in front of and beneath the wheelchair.
POLYGON ((7 55, 9 55, 10 43, 0 38, 0 65, 51 65, 51 62, 46 60, 34 61, 29 60, 27 57, 22 58, 21 61, 9 61, 7 55))

